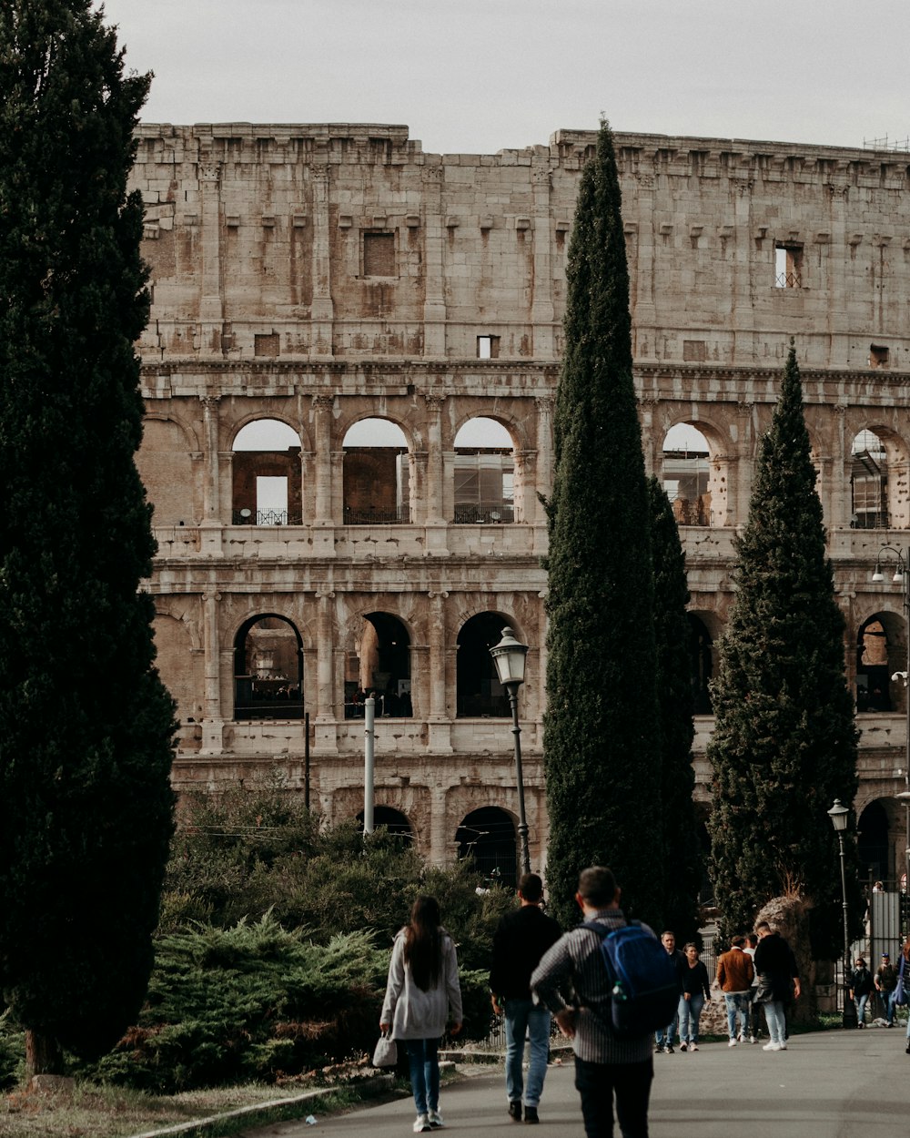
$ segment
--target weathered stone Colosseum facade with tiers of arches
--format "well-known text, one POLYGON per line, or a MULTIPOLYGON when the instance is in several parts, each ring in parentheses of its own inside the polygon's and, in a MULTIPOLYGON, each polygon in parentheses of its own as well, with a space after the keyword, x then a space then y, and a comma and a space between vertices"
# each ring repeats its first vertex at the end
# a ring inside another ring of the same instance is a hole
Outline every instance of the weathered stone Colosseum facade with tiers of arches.
MULTIPOLYGON (((328 818, 354 816, 373 688, 378 820, 435 861, 470 849, 508 875, 513 736, 488 646, 510 625, 529 645, 519 700, 540 864, 539 495, 594 134, 480 156, 423 154, 402 126, 144 125, 138 140, 152 289, 139 464, 181 719, 175 785, 276 766, 328 818)), ((645 457, 676 500, 692 593, 700 809, 733 538, 793 336, 858 696, 862 853, 894 879, 910 157, 622 133, 617 154, 645 457)))

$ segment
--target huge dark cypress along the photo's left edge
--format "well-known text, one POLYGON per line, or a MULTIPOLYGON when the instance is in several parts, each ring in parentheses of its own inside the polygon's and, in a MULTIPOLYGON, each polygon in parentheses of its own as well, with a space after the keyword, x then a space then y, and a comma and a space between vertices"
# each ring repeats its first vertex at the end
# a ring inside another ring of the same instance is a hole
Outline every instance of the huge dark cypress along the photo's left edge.
POLYGON ((133 461, 148 84, 91 0, 0 6, 0 989, 39 1071, 141 1005, 173 826, 133 461))

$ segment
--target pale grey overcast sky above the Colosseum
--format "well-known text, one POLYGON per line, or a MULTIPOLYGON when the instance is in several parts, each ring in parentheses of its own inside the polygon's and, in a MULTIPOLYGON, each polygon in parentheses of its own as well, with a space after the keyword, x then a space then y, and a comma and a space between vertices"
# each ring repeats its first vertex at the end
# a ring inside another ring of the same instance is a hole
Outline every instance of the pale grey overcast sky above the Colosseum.
POLYGON ((106 0, 151 123, 560 127, 861 147, 910 134, 908 0, 106 0))

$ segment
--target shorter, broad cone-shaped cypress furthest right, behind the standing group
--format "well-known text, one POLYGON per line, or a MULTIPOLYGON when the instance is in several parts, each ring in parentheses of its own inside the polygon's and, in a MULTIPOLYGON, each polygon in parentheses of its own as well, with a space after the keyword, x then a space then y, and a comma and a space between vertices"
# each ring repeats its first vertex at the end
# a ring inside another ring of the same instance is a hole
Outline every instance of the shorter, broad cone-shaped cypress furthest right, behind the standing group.
POLYGON ((853 801, 857 731, 792 341, 737 556, 708 751, 718 904, 731 932, 772 897, 799 892, 836 943, 841 877, 827 810, 835 798, 853 801))

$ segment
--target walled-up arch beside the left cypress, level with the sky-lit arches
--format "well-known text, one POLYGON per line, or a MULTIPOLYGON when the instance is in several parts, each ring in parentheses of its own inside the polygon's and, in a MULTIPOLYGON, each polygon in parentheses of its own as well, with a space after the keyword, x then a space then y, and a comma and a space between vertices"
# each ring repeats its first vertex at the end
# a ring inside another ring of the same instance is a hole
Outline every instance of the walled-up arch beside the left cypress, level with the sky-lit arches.
POLYGON ((155 526, 197 526, 202 518, 202 486, 197 440, 182 422, 147 415, 135 456, 139 477, 155 506, 155 526))

